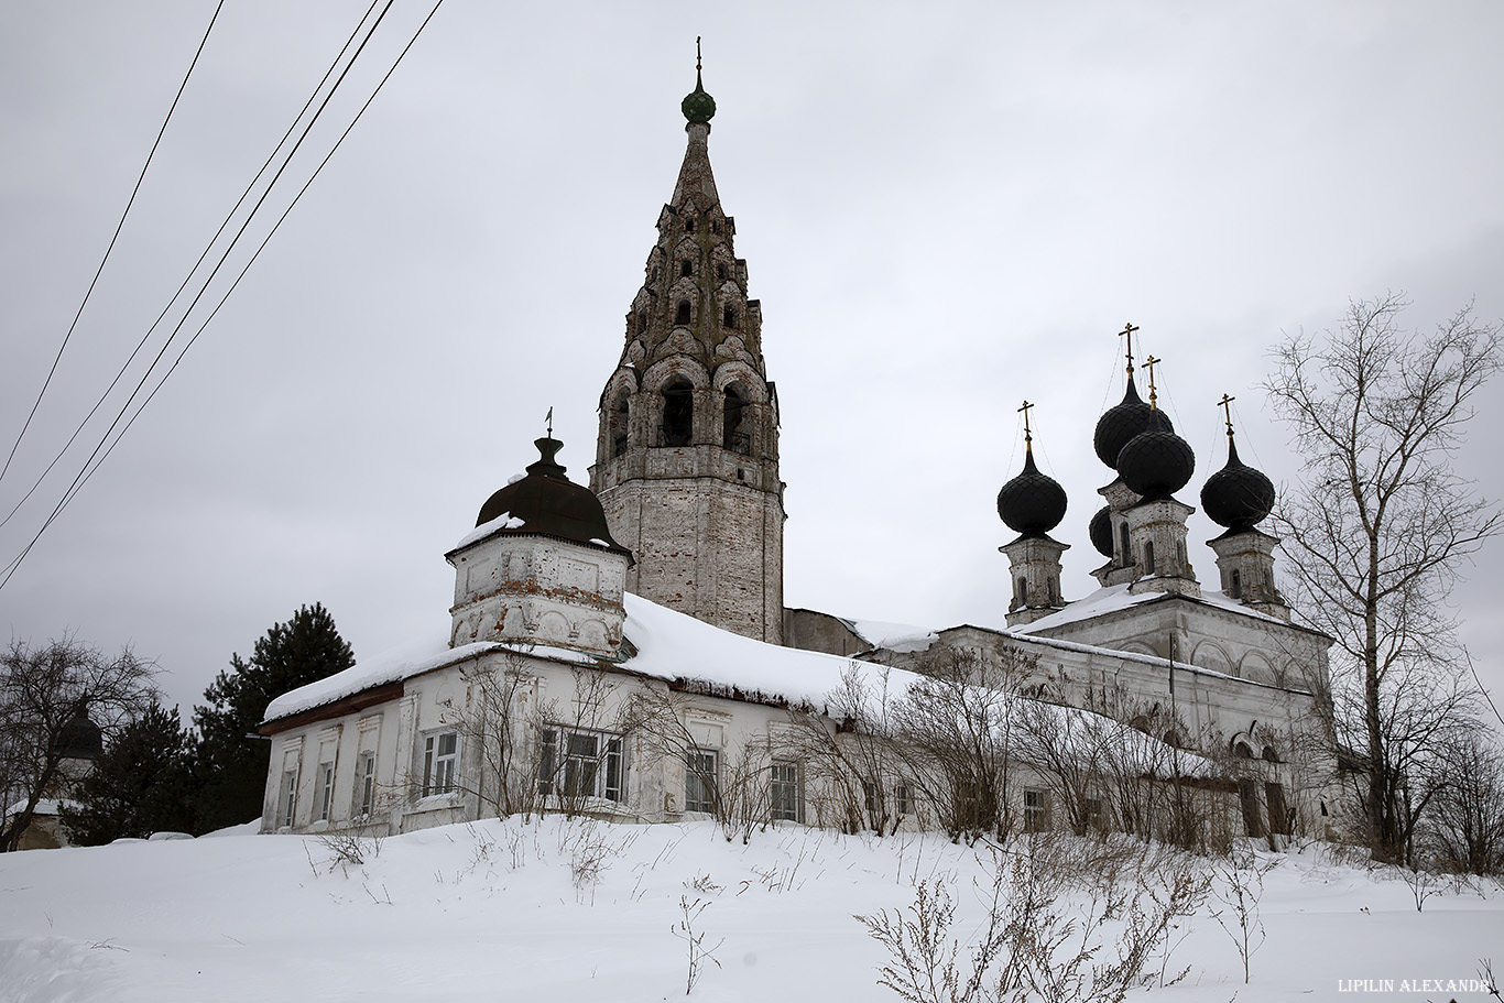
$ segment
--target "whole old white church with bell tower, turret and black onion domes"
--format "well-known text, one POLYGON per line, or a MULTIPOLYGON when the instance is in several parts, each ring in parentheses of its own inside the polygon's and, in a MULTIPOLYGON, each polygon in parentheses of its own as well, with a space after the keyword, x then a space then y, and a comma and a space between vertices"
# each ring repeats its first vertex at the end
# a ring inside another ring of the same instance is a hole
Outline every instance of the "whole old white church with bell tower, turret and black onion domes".
MULTIPOLYGON (((997 496, 1017 534, 999 547, 1006 626, 895 633, 784 606, 778 392, 710 167, 716 105, 698 68, 681 110, 687 147, 600 395, 590 486, 569 478, 564 444, 538 439, 526 475, 444 555, 447 648, 272 701, 263 832, 394 833, 514 811, 850 827, 811 759, 860 740, 835 695, 901 698, 940 659, 1027 666, 1011 699, 1120 723, 1120 744, 1233 761, 1218 789, 1248 835, 1322 832, 1334 764, 1314 693, 1330 639, 1295 624, 1275 588, 1277 540, 1257 529, 1272 486, 1239 462, 1229 421, 1226 466, 1200 493, 1226 528, 1211 541, 1218 588, 1203 588, 1193 508, 1176 498, 1194 456, 1152 380, 1139 397, 1131 328, 1126 394, 1093 442, 1110 475, 1089 532, 1105 558, 1095 592, 1062 598, 1068 544, 1050 534, 1066 498, 1035 466, 1026 423, 1023 471, 997 496)), ((925 826, 923 789, 911 771, 874 768, 854 797, 886 797, 925 826)), ((1017 797, 1030 824, 1045 818, 1044 782, 1017 797)))

